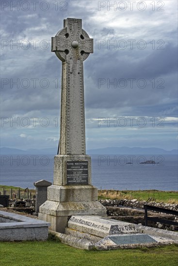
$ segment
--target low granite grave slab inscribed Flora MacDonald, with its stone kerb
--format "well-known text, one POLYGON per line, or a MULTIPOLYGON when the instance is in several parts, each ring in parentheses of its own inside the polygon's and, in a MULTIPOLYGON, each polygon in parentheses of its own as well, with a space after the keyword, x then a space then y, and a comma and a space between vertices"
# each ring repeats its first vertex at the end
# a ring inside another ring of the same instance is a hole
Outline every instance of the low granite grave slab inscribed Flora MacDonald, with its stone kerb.
MULTIPOLYGON (((129 226, 136 226, 137 231, 123 232, 115 230, 115 222, 113 222, 113 220, 98 216, 72 216, 67 223, 68 227, 65 228, 65 234, 50 232, 59 237, 62 242, 86 250, 130 249, 178 243, 178 233, 176 232, 134 224, 129 224, 129 226), (107 233, 109 234, 107 235, 107 233)), ((120 226, 120 222, 117 223, 120 226)), ((122 226, 124 225, 125 223, 122 224, 122 226)))

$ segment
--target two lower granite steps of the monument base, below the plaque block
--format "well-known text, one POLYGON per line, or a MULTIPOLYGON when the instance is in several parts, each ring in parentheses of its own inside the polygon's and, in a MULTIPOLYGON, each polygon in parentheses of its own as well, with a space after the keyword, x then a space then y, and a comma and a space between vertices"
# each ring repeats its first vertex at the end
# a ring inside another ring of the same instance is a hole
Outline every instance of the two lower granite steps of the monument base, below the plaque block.
POLYGON ((97 201, 96 187, 48 187, 48 200, 39 207, 38 219, 50 222, 50 230, 64 233, 72 215, 106 216, 106 208, 97 201))

